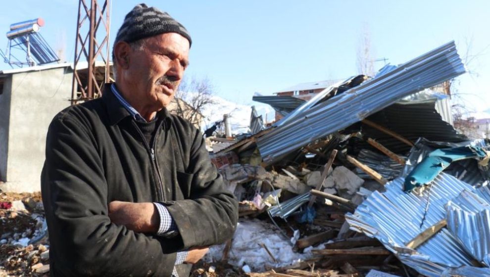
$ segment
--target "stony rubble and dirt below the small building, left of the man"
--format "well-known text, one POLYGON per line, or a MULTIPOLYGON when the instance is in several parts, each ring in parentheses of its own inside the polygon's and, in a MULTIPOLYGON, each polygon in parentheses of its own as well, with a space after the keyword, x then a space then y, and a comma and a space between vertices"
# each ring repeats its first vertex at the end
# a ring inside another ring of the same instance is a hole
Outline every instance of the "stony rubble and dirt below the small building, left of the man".
POLYGON ((0 276, 49 276, 41 193, 0 193, 0 276))

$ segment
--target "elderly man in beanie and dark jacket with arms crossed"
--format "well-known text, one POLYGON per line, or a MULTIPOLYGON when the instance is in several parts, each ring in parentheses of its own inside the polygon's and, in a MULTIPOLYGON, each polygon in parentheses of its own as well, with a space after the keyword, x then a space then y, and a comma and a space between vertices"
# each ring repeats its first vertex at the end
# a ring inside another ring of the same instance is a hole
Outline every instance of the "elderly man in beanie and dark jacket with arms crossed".
POLYGON ((191 37, 139 4, 117 33, 115 84, 49 126, 42 193, 51 276, 189 276, 231 238, 238 203, 202 135, 168 113, 191 37))

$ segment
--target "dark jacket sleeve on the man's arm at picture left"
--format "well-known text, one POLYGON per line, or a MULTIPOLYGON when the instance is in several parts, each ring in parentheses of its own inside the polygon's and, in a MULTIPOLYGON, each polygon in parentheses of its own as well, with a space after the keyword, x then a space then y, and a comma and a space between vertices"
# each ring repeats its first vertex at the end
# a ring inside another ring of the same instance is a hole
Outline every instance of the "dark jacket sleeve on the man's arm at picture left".
POLYGON ((97 147, 81 120, 49 126, 41 186, 55 276, 170 276, 176 254, 163 254, 164 239, 110 222, 97 147))

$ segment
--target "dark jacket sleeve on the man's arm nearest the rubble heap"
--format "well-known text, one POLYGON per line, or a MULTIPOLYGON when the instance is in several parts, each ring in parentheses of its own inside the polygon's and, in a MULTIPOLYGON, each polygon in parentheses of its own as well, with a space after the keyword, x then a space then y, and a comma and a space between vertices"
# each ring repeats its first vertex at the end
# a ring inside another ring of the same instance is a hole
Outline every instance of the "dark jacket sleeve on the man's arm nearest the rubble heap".
POLYGON ((183 248, 223 243, 233 237, 238 221, 238 201, 224 186, 211 163, 205 141, 192 128, 188 174, 190 199, 165 204, 182 236, 183 248))

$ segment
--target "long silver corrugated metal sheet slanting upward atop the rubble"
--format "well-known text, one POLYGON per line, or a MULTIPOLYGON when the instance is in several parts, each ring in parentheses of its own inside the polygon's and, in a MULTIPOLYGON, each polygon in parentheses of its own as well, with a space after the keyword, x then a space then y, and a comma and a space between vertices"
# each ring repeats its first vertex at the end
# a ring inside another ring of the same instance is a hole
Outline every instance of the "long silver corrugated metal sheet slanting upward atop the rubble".
POLYGON ((386 108, 404 96, 464 72, 454 42, 445 44, 389 73, 304 110, 286 124, 258 138, 262 158, 268 163, 276 161, 295 149, 386 108))

